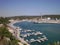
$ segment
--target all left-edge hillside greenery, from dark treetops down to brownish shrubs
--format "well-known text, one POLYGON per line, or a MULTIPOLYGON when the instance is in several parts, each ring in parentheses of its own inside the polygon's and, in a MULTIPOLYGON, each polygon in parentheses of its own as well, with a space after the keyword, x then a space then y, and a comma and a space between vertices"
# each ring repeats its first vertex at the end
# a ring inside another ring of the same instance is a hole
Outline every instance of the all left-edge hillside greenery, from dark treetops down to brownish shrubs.
POLYGON ((7 25, 9 21, 7 18, 0 17, 0 45, 18 45, 18 40, 9 32, 7 25))

